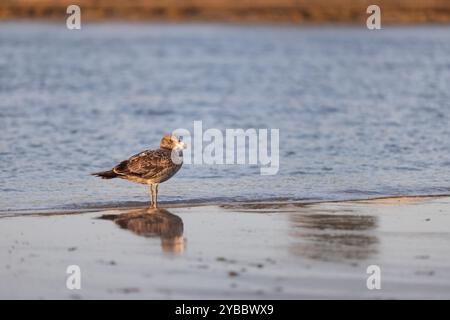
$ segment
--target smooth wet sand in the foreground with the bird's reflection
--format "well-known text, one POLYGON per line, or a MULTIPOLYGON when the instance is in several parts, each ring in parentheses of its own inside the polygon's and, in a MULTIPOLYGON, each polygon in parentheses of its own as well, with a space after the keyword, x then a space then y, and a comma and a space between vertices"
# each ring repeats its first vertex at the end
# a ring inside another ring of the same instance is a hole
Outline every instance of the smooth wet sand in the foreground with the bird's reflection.
POLYGON ((449 197, 3 217, 0 298, 448 299, 449 226, 449 197))

